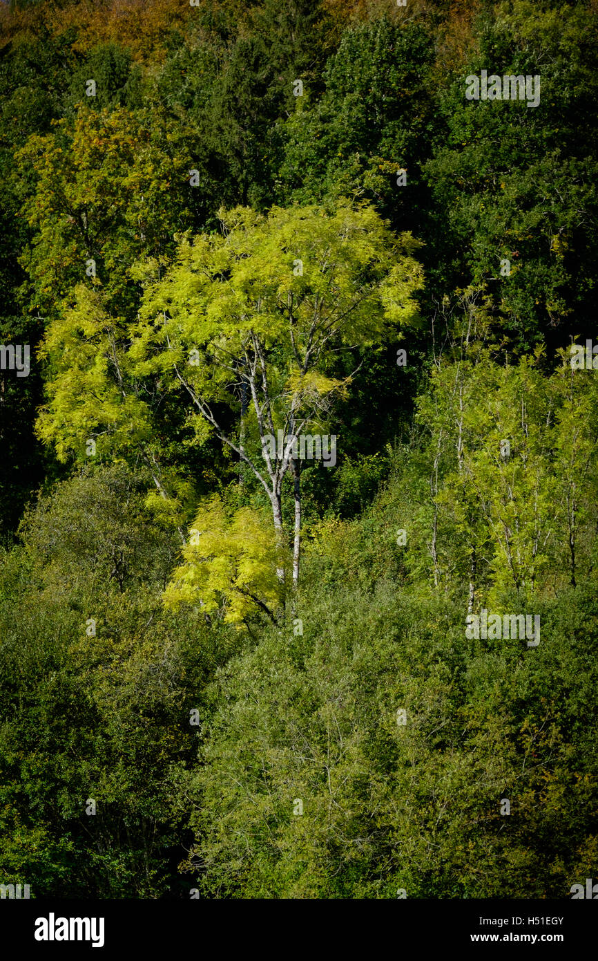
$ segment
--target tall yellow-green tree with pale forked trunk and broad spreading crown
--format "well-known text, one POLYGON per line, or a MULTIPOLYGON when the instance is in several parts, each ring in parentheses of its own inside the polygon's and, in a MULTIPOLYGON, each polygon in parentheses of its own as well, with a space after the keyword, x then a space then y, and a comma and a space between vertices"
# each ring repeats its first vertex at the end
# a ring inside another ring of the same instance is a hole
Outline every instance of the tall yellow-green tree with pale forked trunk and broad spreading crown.
POLYGON ((282 483, 293 472, 297 583, 300 435, 317 456, 313 431, 329 425, 334 397, 350 383, 335 376, 337 354, 380 343, 417 316, 417 243, 395 238, 373 209, 347 204, 332 215, 293 208, 221 216, 223 234, 183 238, 165 276, 155 263, 139 265, 148 287, 124 339, 109 333, 113 318, 87 291, 52 325, 46 349, 56 374, 39 431, 62 456, 81 452, 101 423, 116 450, 141 439, 155 450, 153 407, 179 392, 196 442, 213 431, 266 492, 280 544, 282 483))

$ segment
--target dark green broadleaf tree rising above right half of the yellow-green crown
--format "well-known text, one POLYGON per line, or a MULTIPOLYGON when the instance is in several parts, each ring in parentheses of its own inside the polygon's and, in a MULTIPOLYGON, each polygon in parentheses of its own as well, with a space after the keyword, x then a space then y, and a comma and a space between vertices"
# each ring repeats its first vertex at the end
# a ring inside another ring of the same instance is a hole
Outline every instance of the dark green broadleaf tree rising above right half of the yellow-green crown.
POLYGON ((317 102, 281 123, 282 196, 299 203, 355 193, 376 203, 396 230, 420 230, 419 166, 435 128, 433 43, 419 24, 379 19, 343 35, 326 63, 317 102), (398 169, 408 185, 397 185, 398 169))

